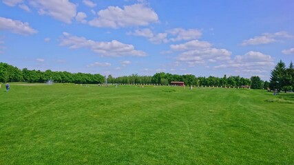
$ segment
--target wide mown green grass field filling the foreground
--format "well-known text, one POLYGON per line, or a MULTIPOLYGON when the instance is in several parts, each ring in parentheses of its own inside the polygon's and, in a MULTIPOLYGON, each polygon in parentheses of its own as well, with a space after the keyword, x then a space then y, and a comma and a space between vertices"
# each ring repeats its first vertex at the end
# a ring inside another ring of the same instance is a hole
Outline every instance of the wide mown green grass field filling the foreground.
POLYGON ((10 86, 0 164, 294 164, 294 94, 10 86))

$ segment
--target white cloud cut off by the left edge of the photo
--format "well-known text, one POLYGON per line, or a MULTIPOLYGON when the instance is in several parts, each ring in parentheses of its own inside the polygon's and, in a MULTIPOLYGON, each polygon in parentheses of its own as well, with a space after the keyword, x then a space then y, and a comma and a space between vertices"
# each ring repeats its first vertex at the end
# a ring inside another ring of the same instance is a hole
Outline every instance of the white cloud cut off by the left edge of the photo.
POLYGON ((34 34, 38 32, 31 28, 29 23, 23 23, 18 20, 6 19, 3 17, 0 17, 0 30, 8 30, 12 33, 23 35, 34 34))

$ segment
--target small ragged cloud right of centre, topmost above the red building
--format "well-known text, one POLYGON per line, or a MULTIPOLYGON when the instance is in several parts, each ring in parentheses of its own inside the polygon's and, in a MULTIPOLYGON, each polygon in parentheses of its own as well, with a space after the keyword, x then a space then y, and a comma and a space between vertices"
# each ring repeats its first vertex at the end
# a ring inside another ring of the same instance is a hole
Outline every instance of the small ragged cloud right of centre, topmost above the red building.
POLYGON ((201 30, 197 29, 185 30, 183 28, 174 28, 171 30, 167 30, 167 33, 176 36, 176 38, 169 39, 170 41, 188 41, 193 39, 200 39, 200 37, 202 36, 201 30))

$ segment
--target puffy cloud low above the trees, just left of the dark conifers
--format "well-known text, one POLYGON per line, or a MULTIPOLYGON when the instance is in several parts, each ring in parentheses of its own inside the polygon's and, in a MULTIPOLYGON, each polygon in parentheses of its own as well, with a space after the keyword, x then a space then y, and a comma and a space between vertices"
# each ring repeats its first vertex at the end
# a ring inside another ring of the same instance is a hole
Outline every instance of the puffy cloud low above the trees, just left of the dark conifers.
POLYGON ((247 52, 244 55, 238 55, 231 61, 222 65, 217 65, 215 69, 234 69, 235 72, 245 75, 258 75, 269 72, 275 65, 273 57, 262 54, 261 52, 247 52))

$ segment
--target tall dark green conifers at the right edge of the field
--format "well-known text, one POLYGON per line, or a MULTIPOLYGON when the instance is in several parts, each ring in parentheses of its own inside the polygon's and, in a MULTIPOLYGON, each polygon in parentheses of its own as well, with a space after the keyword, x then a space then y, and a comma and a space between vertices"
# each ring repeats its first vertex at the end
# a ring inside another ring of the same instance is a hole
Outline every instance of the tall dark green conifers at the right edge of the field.
POLYGON ((289 67, 280 61, 271 71, 271 80, 269 83, 271 90, 292 91, 294 90, 294 67, 291 61, 289 67))

